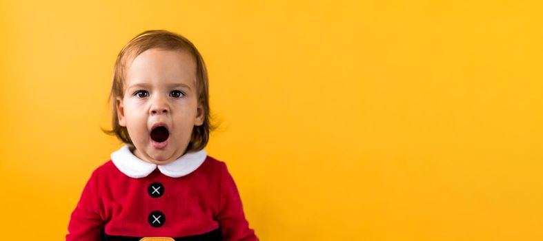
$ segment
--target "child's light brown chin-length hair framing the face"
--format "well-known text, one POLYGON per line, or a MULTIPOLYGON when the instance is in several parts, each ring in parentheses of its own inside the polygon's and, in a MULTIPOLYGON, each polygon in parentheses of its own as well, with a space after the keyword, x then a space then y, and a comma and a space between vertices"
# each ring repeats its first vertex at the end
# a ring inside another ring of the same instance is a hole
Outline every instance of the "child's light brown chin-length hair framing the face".
POLYGON ((128 145, 134 145, 130 136, 128 136, 128 129, 119 125, 119 118, 117 116, 117 108, 115 101, 118 98, 124 97, 124 83, 126 81, 126 67, 128 63, 135 59, 139 54, 146 50, 157 48, 161 50, 179 50, 188 51, 196 63, 196 89, 198 96, 198 103, 204 109, 204 123, 192 128, 192 136, 190 142, 186 148, 185 153, 190 151, 199 151, 206 147, 209 134, 213 129, 217 127, 210 123, 210 109, 209 109, 209 83, 208 73, 206 65, 201 54, 188 39, 184 36, 169 32, 166 30, 148 30, 138 34, 134 39, 130 40, 124 48, 119 52, 117 61, 115 61, 115 69, 112 76, 112 87, 110 92, 110 104, 112 107, 112 129, 102 129, 103 132, 110 135, 115 135, 119 140, 128 145))

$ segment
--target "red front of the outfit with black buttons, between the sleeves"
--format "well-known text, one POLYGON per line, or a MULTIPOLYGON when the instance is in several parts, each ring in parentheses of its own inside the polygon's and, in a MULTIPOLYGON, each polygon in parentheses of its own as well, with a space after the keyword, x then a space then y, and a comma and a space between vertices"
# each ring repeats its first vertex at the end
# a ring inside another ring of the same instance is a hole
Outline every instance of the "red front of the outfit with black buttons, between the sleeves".
POLYGON ((97 173, 106 235, 186 237, 217 231, 221 165, 213 158, 180 178, 155 169, 130 178, 109 161, 97 173))

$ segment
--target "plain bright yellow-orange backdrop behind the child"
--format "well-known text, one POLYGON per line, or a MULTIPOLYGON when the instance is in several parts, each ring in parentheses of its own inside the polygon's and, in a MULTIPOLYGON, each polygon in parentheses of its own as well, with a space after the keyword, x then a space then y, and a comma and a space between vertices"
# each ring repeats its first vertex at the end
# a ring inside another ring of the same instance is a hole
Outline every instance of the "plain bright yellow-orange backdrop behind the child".
POLYGON ((543 240, 537 2, 1 1, 0 239, 64 238, 115 57, 166 29, 261 240, 543 240))

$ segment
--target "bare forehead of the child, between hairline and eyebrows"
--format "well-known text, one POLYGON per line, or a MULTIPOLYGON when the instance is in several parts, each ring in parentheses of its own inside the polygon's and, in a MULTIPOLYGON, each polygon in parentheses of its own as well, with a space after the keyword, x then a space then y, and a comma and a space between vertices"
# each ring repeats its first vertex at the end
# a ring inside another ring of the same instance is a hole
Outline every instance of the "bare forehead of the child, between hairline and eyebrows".
POLYGON ((140 83, 196 86, 196 63, 187 50, 152 48, 128 61, 126 87, 140 83))

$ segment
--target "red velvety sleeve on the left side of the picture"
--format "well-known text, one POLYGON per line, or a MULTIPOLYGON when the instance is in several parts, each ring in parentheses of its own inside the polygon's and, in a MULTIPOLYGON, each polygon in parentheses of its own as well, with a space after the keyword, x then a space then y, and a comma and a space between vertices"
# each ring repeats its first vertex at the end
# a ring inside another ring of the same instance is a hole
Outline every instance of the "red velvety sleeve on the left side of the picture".
POLYGON ((66 241, 101 240, 104 222, 100 216, 96 171, 92 172, 81 198, 72 212, 66 241))

